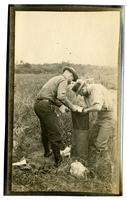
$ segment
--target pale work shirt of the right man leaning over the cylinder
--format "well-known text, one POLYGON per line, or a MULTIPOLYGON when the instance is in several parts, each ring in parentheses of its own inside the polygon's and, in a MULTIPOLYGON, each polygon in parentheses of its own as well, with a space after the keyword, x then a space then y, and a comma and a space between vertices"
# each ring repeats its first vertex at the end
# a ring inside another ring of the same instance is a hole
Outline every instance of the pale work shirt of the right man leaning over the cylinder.
POLYGON ((95 104, 101 105, 101 111, 112 111, 110 92, 101 84, 88 84, 88 96, 84 96, 87 107, 95 104))

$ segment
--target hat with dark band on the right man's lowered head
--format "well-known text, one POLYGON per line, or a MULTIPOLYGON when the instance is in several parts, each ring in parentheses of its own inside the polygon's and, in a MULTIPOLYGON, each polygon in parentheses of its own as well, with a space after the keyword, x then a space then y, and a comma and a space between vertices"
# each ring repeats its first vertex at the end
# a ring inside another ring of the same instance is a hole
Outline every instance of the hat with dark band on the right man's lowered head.
POLYGON ((81 89, 86 85, 86 81, 85 80, 81 80, 81 79, 78 79, 76 81, 76 83, 73 85, 72 87, 72 91, 74 91, 76 93, 76 95, 79 94, 79 92, 81 91, 81 89))

